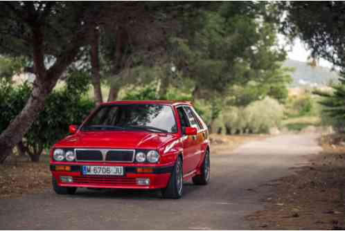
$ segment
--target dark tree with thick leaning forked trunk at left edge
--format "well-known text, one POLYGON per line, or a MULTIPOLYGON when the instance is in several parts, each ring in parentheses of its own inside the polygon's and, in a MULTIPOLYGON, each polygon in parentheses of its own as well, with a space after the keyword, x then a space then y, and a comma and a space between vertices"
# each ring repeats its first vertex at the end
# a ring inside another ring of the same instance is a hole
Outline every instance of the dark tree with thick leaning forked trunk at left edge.
POLYGON ((91 3, 2 2, 0 52, 32 60, 35 82, 24 109, 0 134, 0 163, 21 141, 52 91, 94 28, 100 7, 91 3), (90 17, 92 15, 92 17, 90 17))

